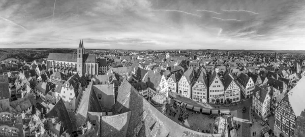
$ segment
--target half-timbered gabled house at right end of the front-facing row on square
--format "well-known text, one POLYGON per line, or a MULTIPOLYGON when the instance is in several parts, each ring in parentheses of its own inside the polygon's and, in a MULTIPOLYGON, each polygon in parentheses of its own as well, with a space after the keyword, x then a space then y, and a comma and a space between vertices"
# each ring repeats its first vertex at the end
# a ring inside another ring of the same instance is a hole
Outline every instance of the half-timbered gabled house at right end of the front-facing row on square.
POLYGON ((225 89, 225 100, 227 103, 240 101, 240 88, 231 74, 227 74, 223 80, 225 89))

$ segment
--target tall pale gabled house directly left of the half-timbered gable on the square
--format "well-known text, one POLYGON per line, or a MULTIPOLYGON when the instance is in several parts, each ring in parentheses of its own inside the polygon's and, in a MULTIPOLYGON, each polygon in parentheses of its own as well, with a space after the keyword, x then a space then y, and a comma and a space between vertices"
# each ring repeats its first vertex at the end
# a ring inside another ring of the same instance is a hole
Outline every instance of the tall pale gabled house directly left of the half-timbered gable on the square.
POLYGON ((211 103, 223 103, 225 100, 225 94, 224 94, 224 84, 222 83, 219 75, 216 73, 216 71, 211 72, 209 78, 208 78, 208 86, 209 86, 209 92, 208 92, 208 102, 211 103))

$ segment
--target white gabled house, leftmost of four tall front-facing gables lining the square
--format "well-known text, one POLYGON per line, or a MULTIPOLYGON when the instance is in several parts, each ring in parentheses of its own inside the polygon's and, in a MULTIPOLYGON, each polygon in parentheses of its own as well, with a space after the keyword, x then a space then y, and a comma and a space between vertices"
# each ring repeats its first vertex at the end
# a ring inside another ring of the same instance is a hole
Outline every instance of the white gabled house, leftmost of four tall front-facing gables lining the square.
POLYGON ((193 68, 189 68, 184 74, 182 74, 180 81, 178 82, 178 93, 182 96, 191 98, 192 87, 194 80, 193 68))

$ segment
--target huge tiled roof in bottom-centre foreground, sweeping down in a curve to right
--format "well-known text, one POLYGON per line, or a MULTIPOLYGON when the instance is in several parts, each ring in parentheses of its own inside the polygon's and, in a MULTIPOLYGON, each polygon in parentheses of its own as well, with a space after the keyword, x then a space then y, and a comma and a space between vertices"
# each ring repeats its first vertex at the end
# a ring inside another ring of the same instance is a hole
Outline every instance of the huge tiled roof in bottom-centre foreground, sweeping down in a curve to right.
MULTIPOLYGON (((221 136, 197 132, 172 121, 139 95, 124 80, 118 89, 114 115, 131 112, 126 136, 221 136)), ((108 136, 108 135, 105 135, 108 136)))

